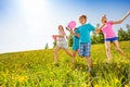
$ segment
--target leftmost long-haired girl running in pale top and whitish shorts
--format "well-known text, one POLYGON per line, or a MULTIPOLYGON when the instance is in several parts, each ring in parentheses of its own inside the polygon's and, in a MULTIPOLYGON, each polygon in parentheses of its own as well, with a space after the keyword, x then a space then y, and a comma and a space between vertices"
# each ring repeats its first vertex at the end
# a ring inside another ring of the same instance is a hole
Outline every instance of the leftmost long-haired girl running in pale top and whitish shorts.
POLYGON ((54 49, 54 64, 57 64, 58 59, 57 59, 57 51, 60 49, 64 49, 65 52, 72 57, 72 53, 68 52, 68 46, 67 46, 67 41, 65 39, 65 32, 62 25, 58 25, 58 35, 53 35, 53 37, 57 37, 56 38, 56 47, 54 49))

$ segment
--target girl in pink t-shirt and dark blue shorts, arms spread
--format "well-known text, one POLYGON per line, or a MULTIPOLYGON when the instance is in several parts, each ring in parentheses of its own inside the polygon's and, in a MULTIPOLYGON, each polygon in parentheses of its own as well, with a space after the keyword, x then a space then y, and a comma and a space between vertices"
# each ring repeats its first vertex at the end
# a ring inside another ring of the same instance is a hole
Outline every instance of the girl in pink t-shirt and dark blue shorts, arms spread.
POLYGON ((128 12, 120 21, 108 21, 108 22, 107 22, 106 15, 104 15, 101 18, 103 25, 95 30, 95 33, 100 33, 102 30, 104 34, 106 55, 108 58, 108 61, 112 59, 110 42, 114 44, 115 48, 121 53, 121 55, 125 55, 123 51, 119 48, 118 37, 115 35, 113 30, 113 25, 121 24, 129 15, 130 15, 130 12, 128 12))

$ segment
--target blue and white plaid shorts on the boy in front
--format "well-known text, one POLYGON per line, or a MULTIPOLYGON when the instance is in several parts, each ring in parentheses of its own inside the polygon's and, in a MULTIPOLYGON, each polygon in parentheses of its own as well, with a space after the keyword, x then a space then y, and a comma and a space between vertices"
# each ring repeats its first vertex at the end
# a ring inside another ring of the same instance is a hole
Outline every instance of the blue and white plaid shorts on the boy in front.
POLYGON ((80 44, 79 57, 90 57, 90 55, 91 55, 91 44, 80 44))

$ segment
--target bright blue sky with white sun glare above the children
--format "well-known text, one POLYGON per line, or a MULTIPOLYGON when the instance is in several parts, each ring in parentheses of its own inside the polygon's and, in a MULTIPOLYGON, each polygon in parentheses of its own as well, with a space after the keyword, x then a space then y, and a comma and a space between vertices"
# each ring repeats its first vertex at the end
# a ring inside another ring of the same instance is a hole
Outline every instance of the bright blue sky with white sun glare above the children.
MULTIPOLYGON (((57 26, 65 27, 70 21, 79 26, 82 14, 96 26, 103 14, 108 21, 118 21, 128 11, 130 0, 0 0, 0 53, 44 49, 46 44, 52 48, 57 26)), ((126 24, 130 16, 114 25, 116 34, 126 24)))

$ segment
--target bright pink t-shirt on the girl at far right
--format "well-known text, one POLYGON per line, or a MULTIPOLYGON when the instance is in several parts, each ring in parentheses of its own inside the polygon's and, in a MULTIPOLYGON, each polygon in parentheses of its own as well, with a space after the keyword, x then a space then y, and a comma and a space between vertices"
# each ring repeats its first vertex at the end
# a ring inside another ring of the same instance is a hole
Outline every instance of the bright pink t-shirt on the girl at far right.
POLYGON ((106 25, 102 28, 105 38, 113 38, 116 37, 116 34, 113 30, 113 23, 112 21, 107 22, 106 25))

